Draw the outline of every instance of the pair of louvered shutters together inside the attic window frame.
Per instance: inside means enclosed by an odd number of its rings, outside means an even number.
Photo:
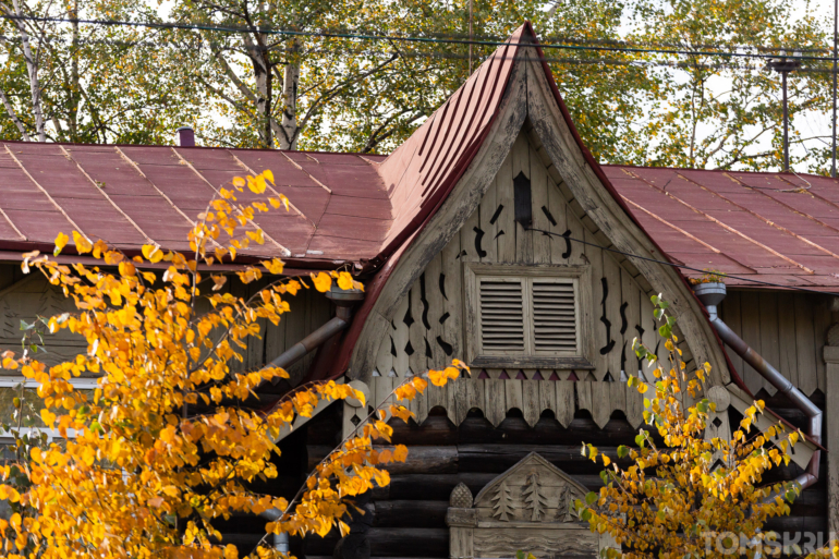
[[[478,277],[481,353],[575,355],[577,280]]]

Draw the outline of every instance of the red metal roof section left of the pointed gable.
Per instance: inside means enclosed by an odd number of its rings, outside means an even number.
[[[273,172],[293,205],[255,218],[254,254],[335,266],[373,258],[392,223],[380,156],[165,146],[0,143],[0,250],[51,250],[59,231],[124,251],[187,248],[196,216],[233,177]],[[247,192],[244,199],[255,196]],[[240,199],[242,197],[240,196]],[[71,244],[72,248],[72,244]]]

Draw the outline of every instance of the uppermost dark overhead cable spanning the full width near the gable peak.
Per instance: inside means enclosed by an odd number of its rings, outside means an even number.
[[[437,45],[460,45],[460,46],[485,46],[485,47],[500,47],[500,46],[521,46],[533,47],[538,46],[543,49],[564,49],[564,50],[593,50],[603,52],[636,52],[647,54],[681,54],[681,56],[706,56],[706,57],[727,57],[727,58],[757,58],[757,59],[775,59],[778,54],[766,52],[735,52],[735,51],[712,51],[712,50],[690,50],[690,49],[650,49],[640,47],[603,47],[603,46],[584,46],[584,45],[561,45],[556,42],[546,42],[534,45],[532,42],[508,42],[498,39],[459,39],[459,38],[440,38],[440,37],[411,37],[402,35],[384,35],[384,34],[370,34],[370,33],[346,33],[346,32],[302,32],[294,29],[273,29],[258,26],[252,27],[236,27],[236,26],[222,26],[222,25],[206,25],[206,24],[193,24],[193,23],[172,23],[172,22],[130,22],[120,20],[86,20],[75,17],[39,17],[35,15],[9,15],[2,14],[1,19],[4,20],[19,20],[19,21],[33,21],[33,22],[52,22],[52,23],[72,23],[72,24],[86,24],[86,25],[111,25],[111,26],[131,26],[131,27],[148,27],[158,29],[181,29],[181,31],[208,31],[208,32],[221,32],[221,33],[260,33],[264,35],[288,36],[288,37],[323,37],[323,38],[340,38],[340,39],[362,39],[362,40],[388,40],[388,41],[402,41],[402,42],[428,42]],[[815,57],[811,54],[787,54],[785,58],[788,60],[807,60],[807,61],[830,61],[832,57]]]

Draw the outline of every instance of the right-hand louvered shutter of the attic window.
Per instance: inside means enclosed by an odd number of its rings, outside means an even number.
[[[573,280],[533,280],[533,349],[536,353],[577,351]]]

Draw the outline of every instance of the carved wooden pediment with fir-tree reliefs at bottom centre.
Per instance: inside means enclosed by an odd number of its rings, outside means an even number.
[[[454,488],[451,503],[469,501],[463,489],[465,486]],[[572,510],[574,500],[586,493],[533,452],[484,487],[471,507],[449,508],[449,557],[511,558],[518,550],[545,559],[597,557],[613,543],[608,536],[593,534]]]

